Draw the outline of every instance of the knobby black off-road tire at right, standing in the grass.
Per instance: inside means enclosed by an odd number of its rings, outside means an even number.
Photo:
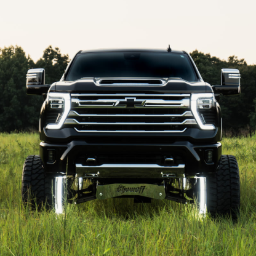
[[[206,178],[207,212],[212,216],[230,215],[236,219],[240,208],[240,179],[234,156],[222,155],[217,173]]]

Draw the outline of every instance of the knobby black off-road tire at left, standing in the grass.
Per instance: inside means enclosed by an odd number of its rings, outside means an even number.
[[[28,156],[22,171],[22,201],[30,204],[32,209],[52,209],[54,196],[52,195],[52,178],[47,178],[42,167],[40,156]]]

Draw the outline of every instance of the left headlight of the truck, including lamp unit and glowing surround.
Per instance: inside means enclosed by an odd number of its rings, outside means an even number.
[[[49,92],[47,95],[47,107],[50,110],[61,110],[62,114],[58,119],[57,124],[47,124],[46,129],[58,130],[60,129],[70,113],[71,97],[70,94],[62,94],[58,92]]]

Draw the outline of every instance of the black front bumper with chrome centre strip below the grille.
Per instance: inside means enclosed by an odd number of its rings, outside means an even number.
[[[48,151],[55,151],[55,161],[49,162]],[[212,162],[206,162],[206,151],[212,150]],[[100,162],[101,154],[108,153],[110,160]],[[162,158],[172,156],[174,164],[165,166],[155,163],[146,166],[146,163],[125,162],[123,164],[111,162],[120,155],[158,155]],[[40,156],[47,175],[54,177],[61,175],[77,175],[86,177],[87,174],[100,174],[95,178],[181,178],[198,176],[204,177],[216,172],[218,160],[222,155],[221,143],[193,144],[190,142],[173,143],[100,143],[74,140],[70,143],[40,143]],[[86,158],[94,156],[98,163],[88,166]],[[153,157],[154,158],[154,157]],[[177,161],[175,159],[178,159]]]

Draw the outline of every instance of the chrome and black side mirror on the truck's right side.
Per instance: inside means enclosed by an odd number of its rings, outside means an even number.
[[[215,94],[237,95],[241,93],[239,70],[223,68],[221,71],[221,86],[212,86]]]

